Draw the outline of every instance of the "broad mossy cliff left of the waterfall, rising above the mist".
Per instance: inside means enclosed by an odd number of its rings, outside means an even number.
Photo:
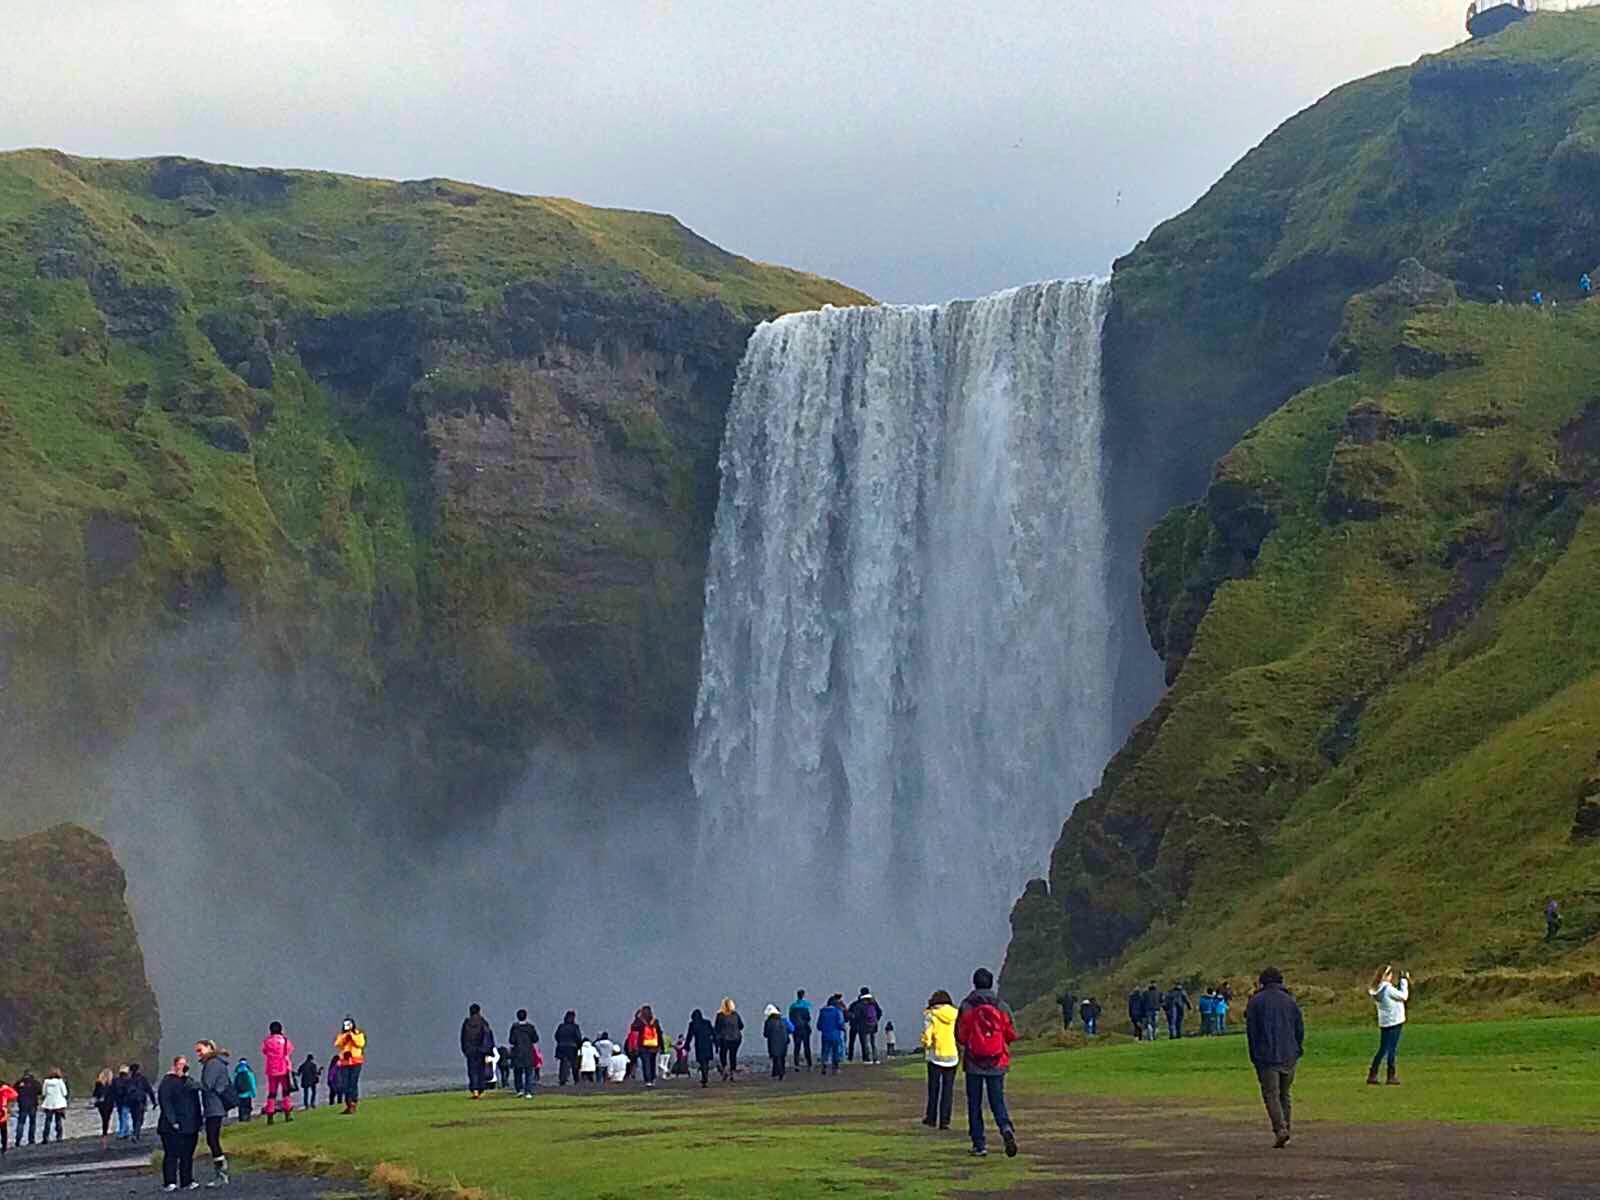
[[[670,218],[0,155],[8,822],[93,814],[80,768],[213,626],[309,760],[382,731],[424,808],[541,739],[659,757],[744,339],[862,301]]]

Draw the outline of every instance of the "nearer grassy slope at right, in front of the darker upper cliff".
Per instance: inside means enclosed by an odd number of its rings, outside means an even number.
[[[1342,1002],[1387,960],[1464,1010],[1595,998],[1600,306],[1413,264],[1339,346],[1150,536],[1176,680],[1016,907],[1018,998],[1277,962]]]

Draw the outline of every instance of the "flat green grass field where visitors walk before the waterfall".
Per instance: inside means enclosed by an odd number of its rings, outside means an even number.
[[[1600,1128],[1600,1019],[1416,1026],[1402,1043],[1400,1088],[1368,1088],[1368,1029],[1310,1030],[1296,1085],[1296,1123],[1408,1122]],[[944,1197],[1003,1194],[1064,1174],[1107,1120],[1138,1138],[1155,1117],[1184,1136],[1259,1123],[1242,1035],[1182,1043],[1118,1042],[1038,1050],[1010,1082],[1022,1157],[966,1157],[960,1094],[955,1130],[920,1117],[922,1066],[856,1069],[835,1080],[752,1080],[710,1091],[674,1083],[654,1093],[546,1090],[525,1102],[462,1094],[376,1099],[354,1118],[302,1115],[229,1133],[242,1160],[368,1178],[392,1195],[461,1197]],[[1150,1125],[1138,1110],[1149,1106]],[[1128,1112],[1134,1120],[1130,1122]],[[1163,1125],[1162,1128],[1170,1128]],[[1315,1134],[1312,1134],[1315,1136]]]

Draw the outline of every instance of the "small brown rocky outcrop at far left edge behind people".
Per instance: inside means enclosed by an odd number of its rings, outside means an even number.
[[[110,846],[77,826],[0,842],[0,1078],[160,1062],[162,1021]]]

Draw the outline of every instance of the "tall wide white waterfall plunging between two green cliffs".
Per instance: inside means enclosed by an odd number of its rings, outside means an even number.
[[[958,995],[1114,750],[1106,302],[1056,282],[752,334],[693,766],[698,877],[763,968]]]

